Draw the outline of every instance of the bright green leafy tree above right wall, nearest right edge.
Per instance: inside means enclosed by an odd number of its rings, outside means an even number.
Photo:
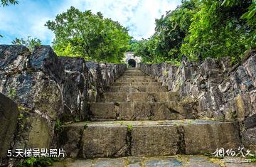
[[[239,60],[246,50],[250,28],[240,17],[250,1],[197,1],[189,34],[181,53],[191,60],[230,56]],[[231,6],[232,4],[232,6]]]

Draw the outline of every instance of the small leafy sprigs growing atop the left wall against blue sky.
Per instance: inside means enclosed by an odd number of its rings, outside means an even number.
[[[26,45],[29,50],[34,50],[36,45],[41,45],[41,40],[38,38],[31,38],[31,36],[28,36],[26,40],[23,38],[15,38],[14,41],[11,42],[13,45]]]

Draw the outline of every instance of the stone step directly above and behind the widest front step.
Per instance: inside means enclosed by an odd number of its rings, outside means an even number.
[[[193,102],[94,102],[90,104],[91,120],[164,120],[195,119]]]

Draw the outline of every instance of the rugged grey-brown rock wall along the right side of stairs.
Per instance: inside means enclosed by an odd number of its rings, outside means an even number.
[[[140,68],[183,100],[198,102],[201,117],[242,120],[256,113],[256,51],[242,65],[232,66],[230,58],[206,58],[202,63],[183,60],[180,67],[161,63]]]

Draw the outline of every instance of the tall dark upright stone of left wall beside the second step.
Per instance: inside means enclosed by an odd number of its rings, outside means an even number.
[[[59,58],[65,69],[65,80],[63,82],[64,113],[62,119],[65,122],[74,119],[86,119],[90,78],[85,60],[84,58]]]

